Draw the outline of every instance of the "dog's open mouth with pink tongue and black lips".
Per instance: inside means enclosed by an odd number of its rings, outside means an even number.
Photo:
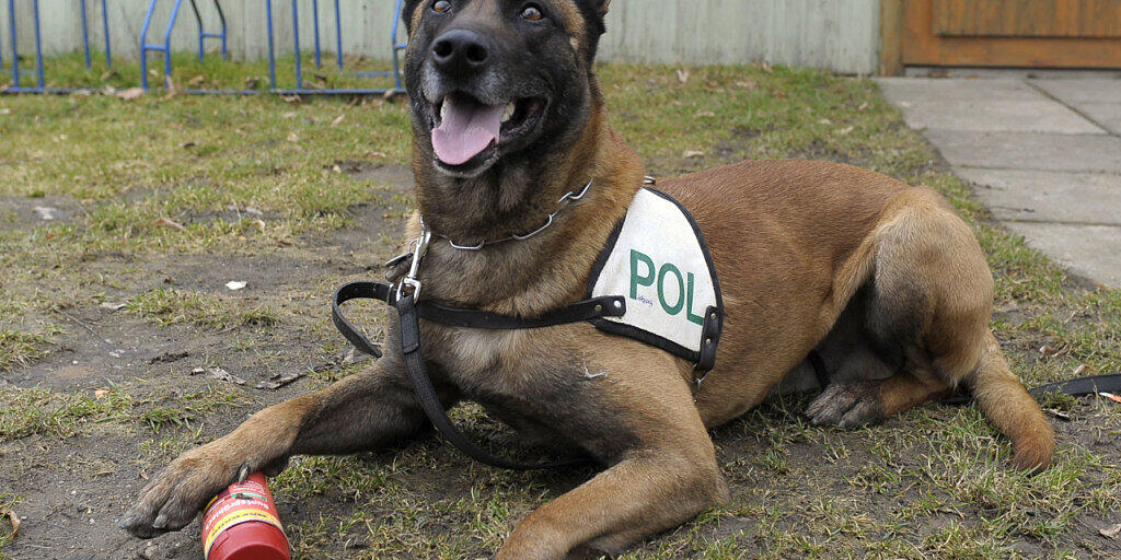
[[[535,97],[489,105],[466,93],[451,93],[433,105],[432,147],[445,166],[473,167],[532,131],[544,112],[545,102]]]

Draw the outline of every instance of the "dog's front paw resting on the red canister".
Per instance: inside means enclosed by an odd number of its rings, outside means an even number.
[[[156,475],[121,517],[120,526],[140,539],[178,531],[194,521],[210,498],[250,474],[248,466],[223,460],[213,445],[180,455]]]

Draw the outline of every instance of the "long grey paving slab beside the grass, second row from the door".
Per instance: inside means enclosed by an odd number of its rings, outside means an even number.
[[[1038,101],[904,101],[907,125],[917,130],[992,132],[1058,132],[1105,134],[1104,129],[1051,100]],[[1121,108],[1121,104],[1118,105]]]

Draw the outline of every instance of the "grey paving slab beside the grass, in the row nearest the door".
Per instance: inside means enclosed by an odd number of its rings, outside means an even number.
[[[892,103],[919,101],[1048,101],[1021,80],[878,77],[880,91]]]

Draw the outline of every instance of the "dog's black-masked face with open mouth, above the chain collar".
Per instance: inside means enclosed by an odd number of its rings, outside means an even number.
[[[420,156],[473,178],[575,141],[610,0],[413,0],[405,81]]]

